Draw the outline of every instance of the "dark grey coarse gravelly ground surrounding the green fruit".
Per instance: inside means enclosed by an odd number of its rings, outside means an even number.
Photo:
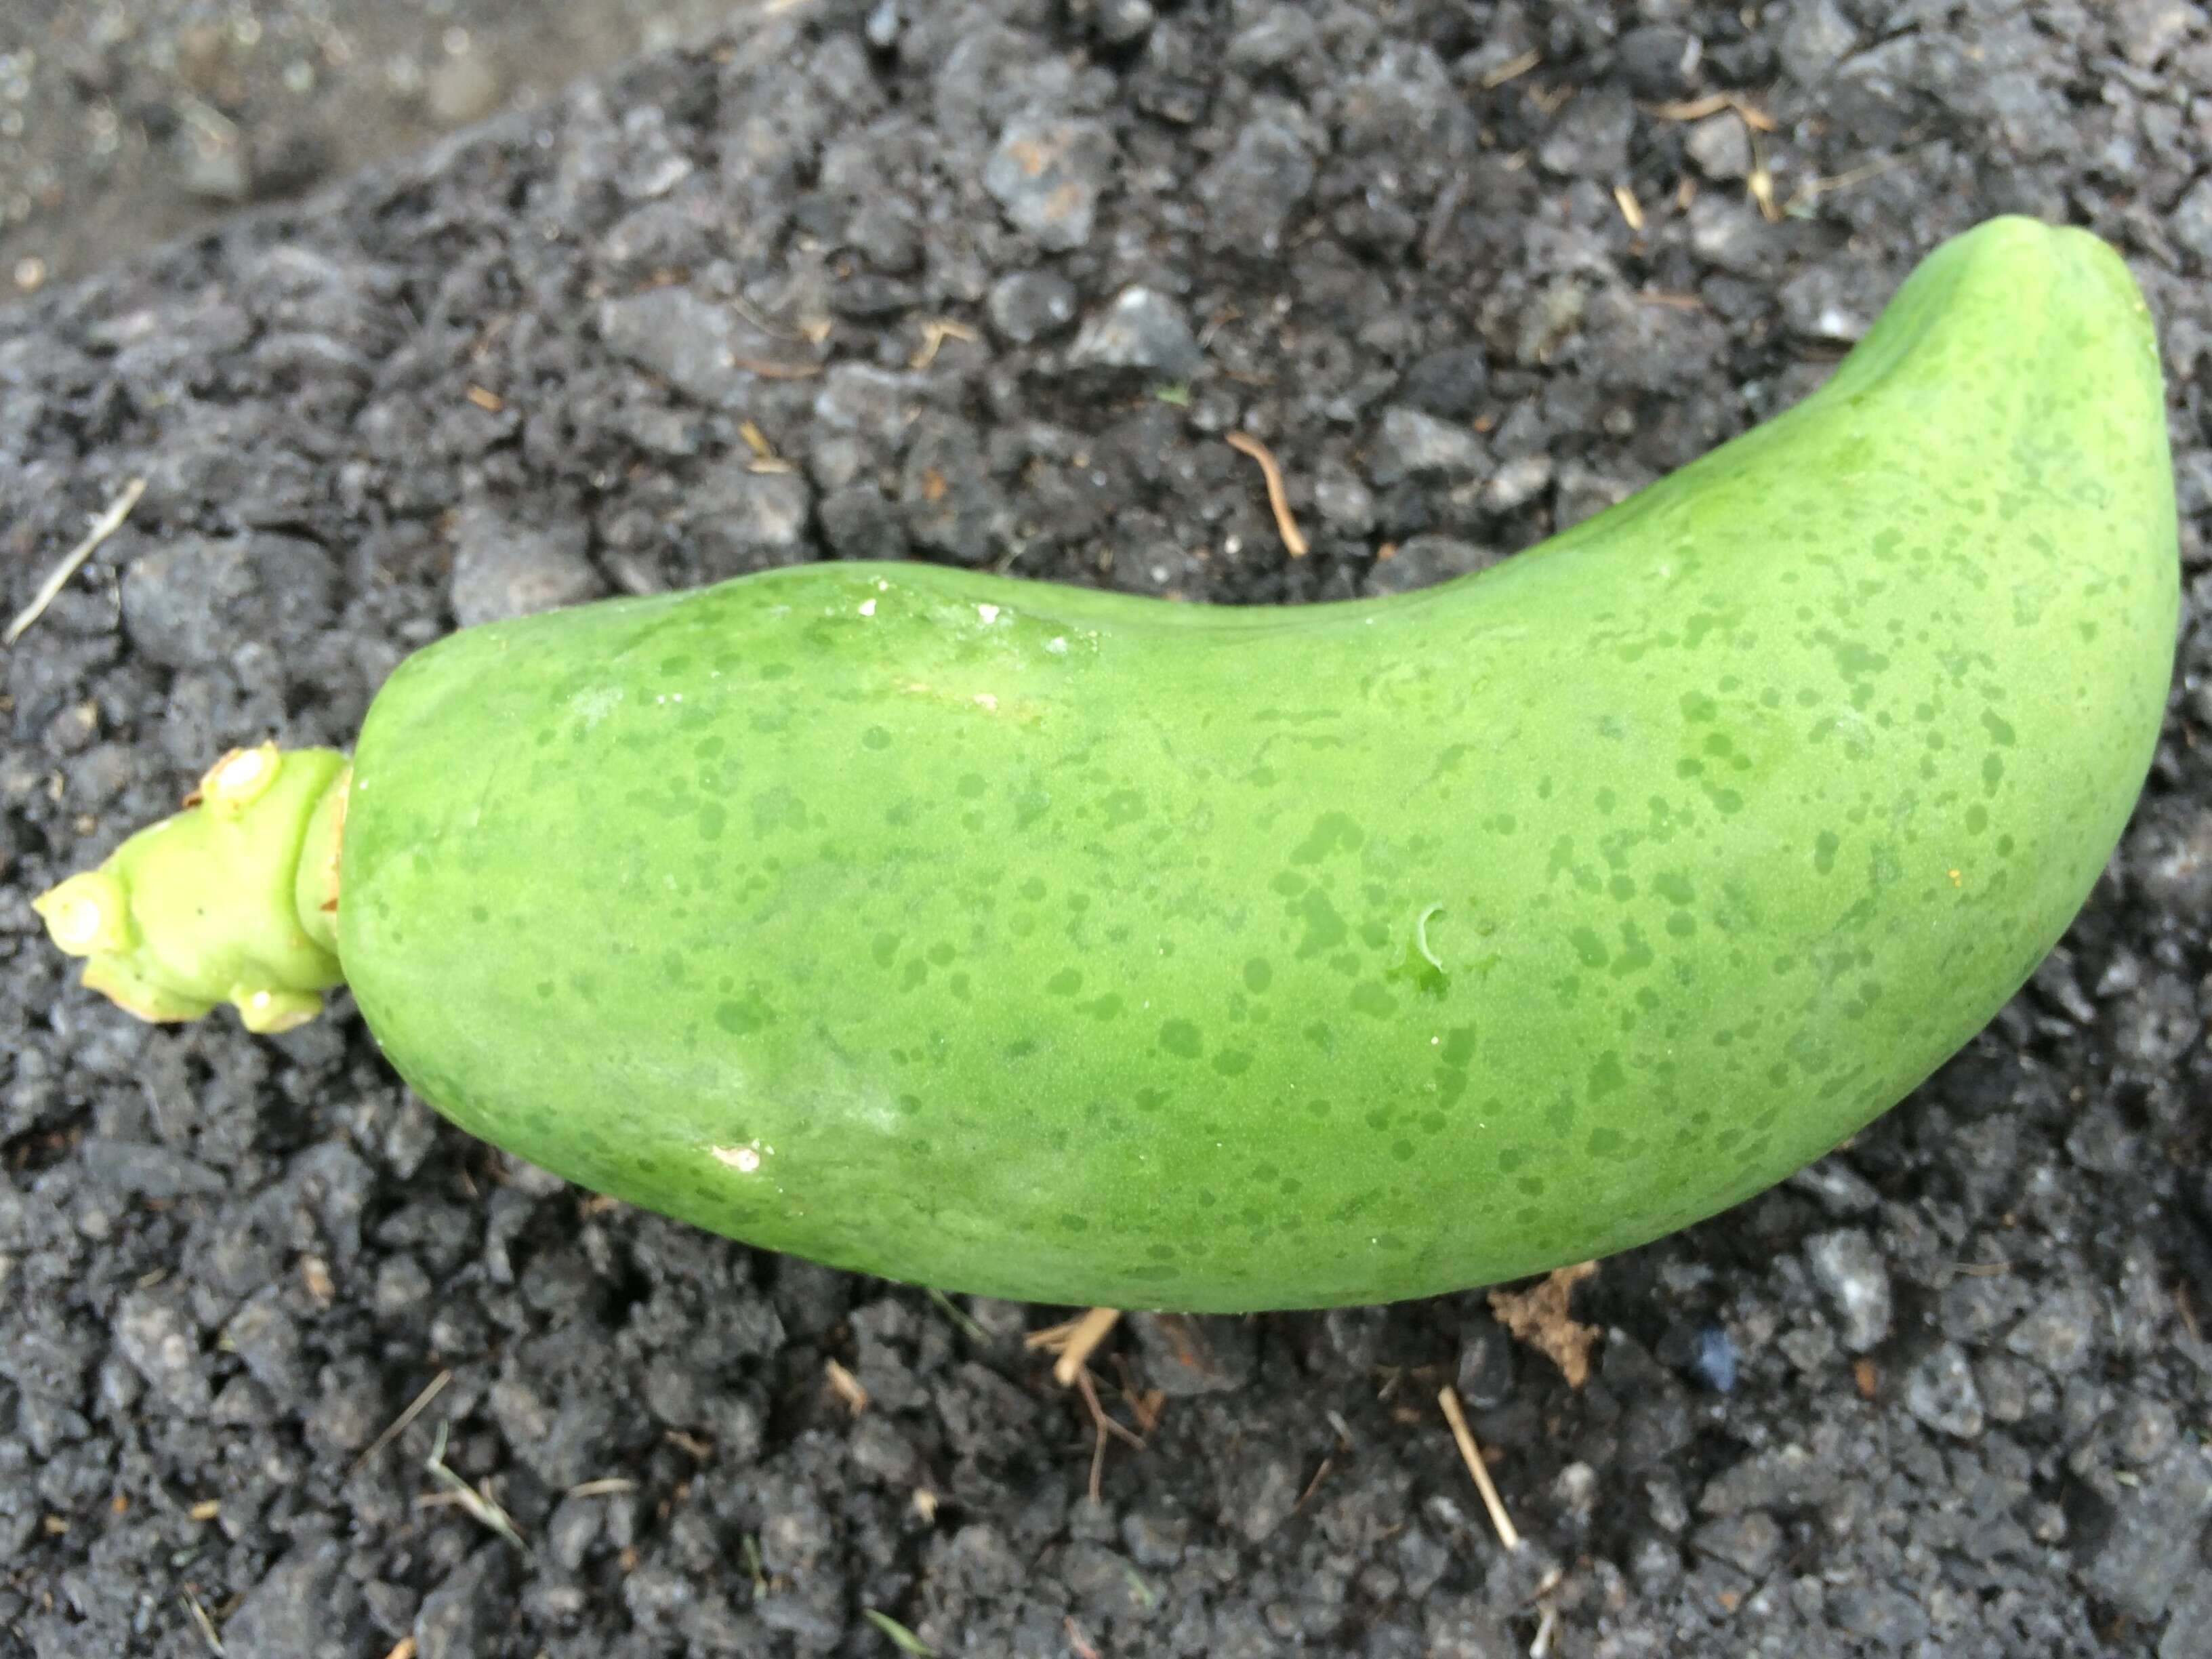
[[[146,480],[4,653],[0,1655],[2205,1655],[2208,93],[2159,0],[816,0],[0,310],[0,615]],[[2002,210],[2161,321],[2150,787],[1905,1106],[1575,1290],[1579,1389],[1489,1287],[1130,1314],[1060,1387],[1024,1336],[1079,1310],[577,1192],[343,1000],[135,1024],[29,909],[456,624],[818,557],[1480,568]]]

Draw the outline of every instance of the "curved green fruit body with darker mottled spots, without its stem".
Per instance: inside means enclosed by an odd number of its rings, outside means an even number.
[[[453,635],[363,730],[341,956],[465,1128],[741,1239],[1444,1292],[1734,1203],[1973,1035],[2126,823],[2174,606],[2143,305],[1997,221],[1801,409],[1427,593],[825,564]]]

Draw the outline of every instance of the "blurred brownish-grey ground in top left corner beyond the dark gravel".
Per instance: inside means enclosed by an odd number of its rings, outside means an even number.
[[[7,0],[0,294],[299,197],[743,15],[728,0]]]

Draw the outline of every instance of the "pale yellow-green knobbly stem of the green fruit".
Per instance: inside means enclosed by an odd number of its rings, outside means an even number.
[[[248,1031],[290,1031],[345,982],[349,779],[336,750],[230,750],[181,812],[31,909],[62,951],[84,958],[84,984],[139,1020],[197,1020],[228,1002]]]

